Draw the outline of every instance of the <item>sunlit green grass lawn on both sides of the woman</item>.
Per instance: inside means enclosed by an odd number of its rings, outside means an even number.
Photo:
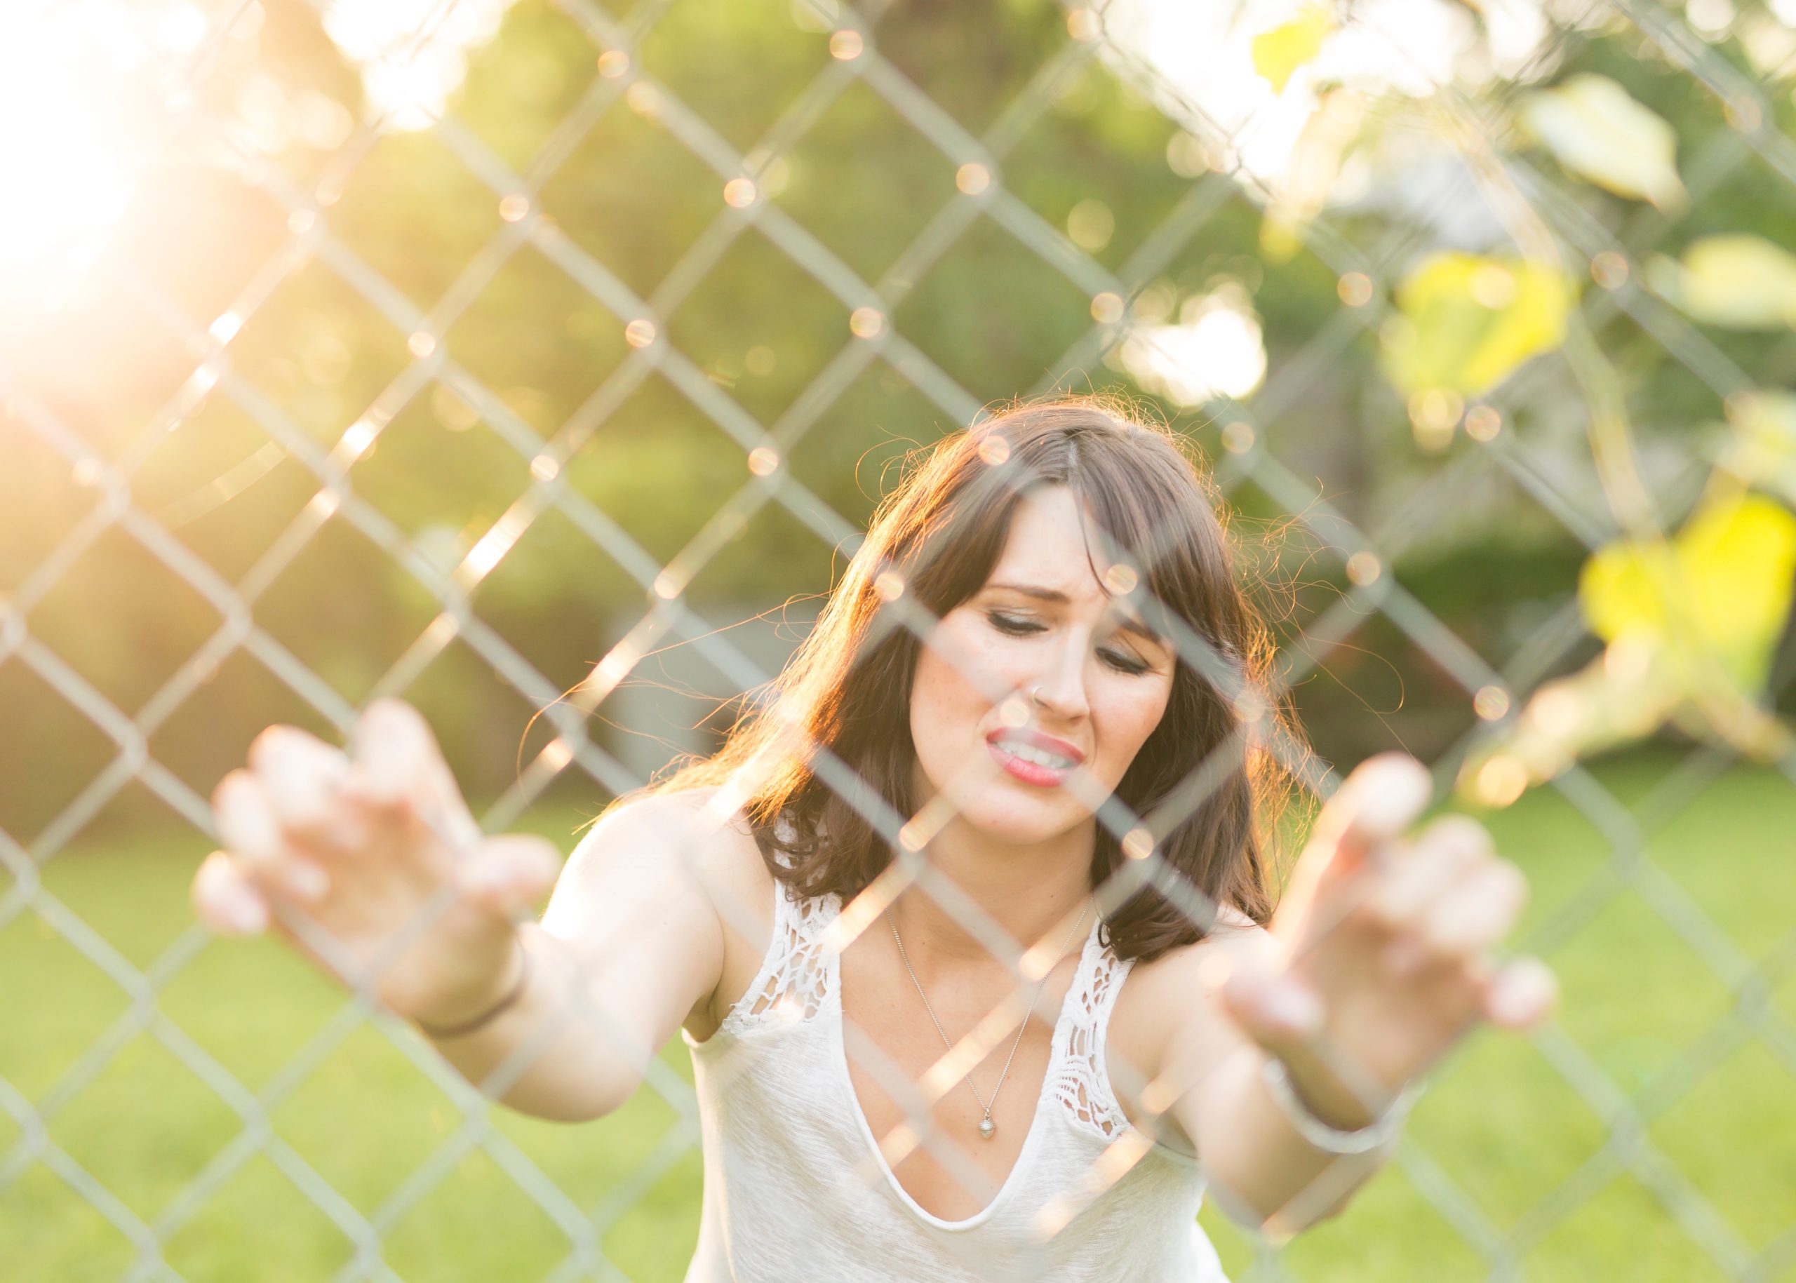
[[[1627,823],[1667,796],[1677,758],[1642,753],[1597,765]],[[1665,888],[1688,897],[1748,960],[1767,956],[1796,924],[1789,888],[1796,791],[1762,769],[1719,776],[1688,807],[1643,836],[1640,852]],[[532,828],[571,846],[569,814],[535,814]],[[1721,1040],[1728,987],[1652,909],[1622,888],[1584,913],[1611,843],[1555,791],[1487,818],[1534,898],[1521,940],[1546,924],[1577,929],[1548,952],[1564,987],[1559,1031],[1624,1093],[1654,1100],[1699,1046],[1726,1048],[1688,1093],[1660,1110],[1647,1139],[1748,1251],[1796,1224],[1796,1082],[1756,1037]],[[190,925],[187,880],[208,846],[196,834],[72,848],[43,870],[50,897],[102,947],[149,969]],[[9,891],[11,882],[0,880]],[[1572,906],[1572,907],[1568,907]],[[1566,916],[1572,913],[1572,916]],[[271,942],[207,940],[154,992],[156,1008],[246,1093],[264,1093],[332,1017],[341,992]],[[1796,978],[1773,990],[1778,1019],[1796,1024]],[[0,927],[0,1096],[43,1103],[56,1084],[120,1021],[133,999],[38,911]],[[424,1044],[418,1044],[426,1049]],[[690,1080],[675,1040],[665,1060]],[[645,1089],[598,1123],[568,1127],[494,1112],[494,1127],[564,1193],[577,1215],[625,1209],[603,1231],[605,1254],[634,1279],[679,1279],[697,1234],[700,1164],[679,1152],[686,1123]],[[458,1128],[451,1100],[377,1030],[363,1024],[269,1109],[296,1161],[338,1191],[341,1208],[374,1215]],[[138,1030],[104,1069],[48,1118],[48,1139],[99,1181],[120,1215],[153,1224],[171,1200],[242,1137],[242,1121],[181,1058]],[[1530,1227],[1537,1208],[1580,1173],[1607,1130],[1591,1105],[1528,1040],[1482,1031],[1442,1067],[1417,1105],[1410,1141],[1496,1233]],[[115,1279],[135,1260],[128,1238],[43,1161],[20,1166],[22,1128],[0,1112],[0,1276],[77,1283]],[[645,1163],[661,1154],[650,1170]],[[668,1159],[668,1154],[677,1157]],[[332,1208],[339,1211],[339,1208]],[[1248,1272],[1254,1242],[1214,1208],[1209,1227],[1230,1274]],[[330,1278],[354,1243],[282,1164],[253,1152],[167,1240],[165,1260],[201,1279]],[[490,1155],[463,1155],[386,1233],[383,1256],[402,1278],[535,1279],[569,1240]],[[1471,1279],[1489,1267],[1433,1200],[1397,1168],[1351,1209],[1284,1249],[1300,1279]],[[1521,1274],[1631,1283],[1708,1279],[1726,1272],[1634,1175],[1597,1181],[1570,1215],[1537,1225]],[[1796,1269],[1780,1278],[1796,1283]]]

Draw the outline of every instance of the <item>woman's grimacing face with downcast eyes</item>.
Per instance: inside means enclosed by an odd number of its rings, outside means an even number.
[[[1094,530],[1092,573],[1081,519],[1065,485],[1026,494],[984,588],[941,618],[918,659],[918,798],[946,792],[959,823],[1000,841],[1088,823],[1092,807],[1065,787],[1070,764],[1090,776],[1087,798],[1112,792],[1173,690],[1171,645],[1112,604],[1099,579],[1110,562]]]

